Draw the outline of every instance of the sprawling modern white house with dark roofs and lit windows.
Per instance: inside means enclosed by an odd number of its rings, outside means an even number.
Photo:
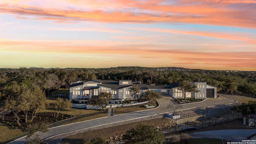
[[[186,98],[200,98],[207,97],[216,98],[217,88],[207,85],[206,82],[193,82],[197,85],[199,92],[186,92]],[[140,86],[140,92],[138,92],[138,98],[140,94],[147,90],[153,90],[160,92],[164,95],[172,96],[173,98],[183,98],[182,91],[179,90],[178,83],[166,85],[166,86],[152,86],[147,84],[141,84],[140,82],[132,82],[132,80],[88,80],[72,82],[70,85],[70,101],[76,98],[92,98],[98,96],[100,92],[111,92],[114,99],[127,99],[132,100],[129,88],[132,86]],[[209,90],[208,90],[209,88]],[[209,91],[209,94],[208,94]]]

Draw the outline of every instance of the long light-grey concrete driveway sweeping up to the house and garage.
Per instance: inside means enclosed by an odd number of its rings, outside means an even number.
[[[138,111],[138,112],[131,112],[131,113],[126,113],[126,114],[120,114],[120,115],[116,115],[116,116],[108,116],[108,117],[104,117],[104,118],[88,120],[88,121],[84,121],[84,122],[77,122],[74,124],[68,124],[68,125],[50,128],[48,132],[44,133],[44,137],[50,138],[57,134],[63,134],[63,133],[71,132],[74,130],[80,130],[80,129],[84,129],[84,128],[100,126],[100,125],[120,122],[120,121],[124,121],[124,120],[132,120],[132,119],[136,119],[136,118],[140,118],[140,117],[151,116],[154,114],[168,113],[168,112],[172,111],[170,109],[167,109],[167,105],[171,102],[171,100],[172,100],[172,98],[170,96],[164,96],[163,98],[158,100],[158,102],[160,104],[160,106],[158,108],[144,110],[144,111]],[[207,98],[207,100],[205,100],[204,102],[198,102],[198,103],[193,103],[193,104],[183,104],[183,107],[178,110],[195,108],[195,107],[206,107],[206,106],[210,106],[210,105],[232,103],[232,102],[235,102],[235,100],[226,98],[225,96],[220,96],[220,98]],[[18,140],[10,142],[10,144],[24,144],[26,141],[27,141],[26,138],[20,138]]]

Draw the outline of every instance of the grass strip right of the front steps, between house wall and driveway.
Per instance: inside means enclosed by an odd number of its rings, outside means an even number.
[[[114,108],[114,115],[124,114],[124,113],[128,113],[128,112],[136,112],[136,111],[139,111],[139,110],[148,110],[150,108],[145,108],[144,107],[144,105],[147,105],[147,104],[148,103],[137,105],[137,106],[128,106],[128,107]],[[158,103],[152,102],[151,105],[157,107]]]

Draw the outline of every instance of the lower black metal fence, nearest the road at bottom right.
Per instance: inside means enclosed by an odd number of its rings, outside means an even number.
[[[172,134],[178,134],[181,132],[189,132],[192,130],[198,130],[198,129],[206,128],[209,126],[216,126],[217,124],[232,122],[232,121],[238,120],[240,118],[242,118],[242,114],[234,114],[232,116],[217,118],[215,120],[202,120],[202,121],[188,122],[185,124],[180,124],[177,127],[170,128],[169,132],[165,133],[164,135],[170,136]]]

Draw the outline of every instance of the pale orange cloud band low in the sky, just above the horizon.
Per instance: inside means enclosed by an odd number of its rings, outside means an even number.
[[[97,64],[100,64],[102,60],[108,60],[110,67],[116,66],[116,64],[119,64],[119,66],[136,64],[150,67],[170,64],[169,66],[189,66],[190,68],[193,66],[194,68],[211,66],[210,69],[256,70],[255,50],[232,52],[224,49],[218,52],[211,52],[207,51],[207,48],[201,51],[200,49],[166,47],[162,48],[162,45],[159,44],[113,43],[107,41],[0,40],[2,54],[6,52],[22,53],[22,56],[27,59],[33,57],[30,56],[31,53],[35,53],[36,55],[51,56],[55,54],[55,58],[58,58],[58,61],[66,60],[66,58],[72,59],[72,61],[81,61],[84,58],[88,60],[89,58],[90,62],[92,61],[95,66],[99,67],[101,65]],[[26,63],[30,63],[30,61],[28,60]],[[50,63],[54,63],[54,61]],[[78,65],[77,67],[82,67],[82,63],[80,66]]]

